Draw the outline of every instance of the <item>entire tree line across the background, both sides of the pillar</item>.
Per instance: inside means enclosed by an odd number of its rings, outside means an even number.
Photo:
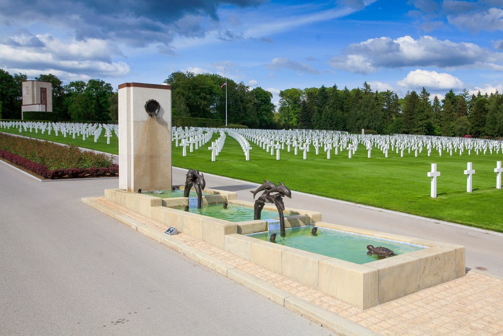
[[[60,120],[117,121],[118,94],[99,79],[70,82],[54,75],[36,80],[52,83],[53,110]],[[0,117],[21,118],[22,88],[26,75],[0,69]],[[216,74],[174,72],[165,81],[172,87],[173,116],[225,120],[250,128],[333,129],[380,134],[406,133],[436,136],[503,136],[503,95],[470,95],[450,90],[440,100],[423,88],[400,98],[391,91],[373,91],[365,82],[349,90],[320,88],[280,91],[279,107],[272,93]],[[224,85],[225,84],[225,85]],[[226,113],[227,109],[227,113]]]

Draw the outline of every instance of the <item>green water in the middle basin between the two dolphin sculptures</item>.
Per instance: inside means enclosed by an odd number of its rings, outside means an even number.
[[[173,209],[185,210],[185,207],[176,207]],[[253,221],[254,217],[254,208],[240,206],[236,204],[229,204],[227,206],[227,209],[223,208],[222,203],[208,204],[204,205],[203,209],[197,209],[197,207],[191,207],[189,212],[212,218],[224,219],[229,222]],[[269,211],[266,209],[262,210],[261,215],[262,215],[261,219],[263,220],[279,217],[277,212]]]

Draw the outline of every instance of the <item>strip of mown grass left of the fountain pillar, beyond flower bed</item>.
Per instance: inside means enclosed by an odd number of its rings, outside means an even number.
[[[35,128],[31,132],[29,128],[26,131],[23,128],[22,132],[19,132],[18,128],[14,127],[11,127],[10,129],[0,128],[0,132],[11,133],[28,138],[52,141],[64,145],[75,145],[77,147],[92,149],[94,151],[100,151],[110,154],[119,154],[119,138],[117,138],[115,136],[115,133],[113,133],[112,137],[110,137],[110,145],[107,145],[105,129],[102,130],[101,136],[96,143],[94,142],[94,136],[86,138],[86,140],[82,140],[81,134],[78,137],[77,135],[75,135],[75,139],[73,139],[73,136],[68,134],[66,135],[66,138],[64,138],[63,134],[59,132],[58,136],[56,137],[54,129],[51,131],[51,135],[48,135],[47,129],[45,130],[44,134],[42,134],[42,131],[40,129],[38,130],[38,133],[35,133]]]

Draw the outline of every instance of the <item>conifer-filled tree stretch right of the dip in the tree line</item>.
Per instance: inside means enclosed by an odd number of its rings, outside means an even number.
[[[430,100],[423,88],[420,93],[408,91],[399,98],[390,90],[363,88],[287,89],[280,92],[278,121],[285,126],[309,129],[334,129],[377,133],[405,133],[436,136],[474,137],[503,136],[503,95],[497,90],[490,95],[480,91],[469,95],[464,89],[445,98]]]

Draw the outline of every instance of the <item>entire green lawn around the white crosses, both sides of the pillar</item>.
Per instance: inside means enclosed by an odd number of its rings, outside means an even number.
[[[13,129],[11,129],[12,131]],[[2,129],[1,131],[4,131]],[[17,129],[12,131],[18,134]],[[24,134],[23,134],[24,135]],[[93,139],[82,142],[62,136],[42,138],[40,134],[28,133],[33,138],[46,139],[61,143],[71,143],[103,152],[118,153],[117,138],[112,138],[110,145],[101,137],[98,144]],[[215,134],[213,140],[218,138]],[[74,142],[73,142],[74,141]],[[468,156],[448,152],[442,157],[432,152],[428,157],[426,149],[416,158],[414,152],[405,151],[404,157],[395,151],[389,151],[389,158],[384,158],[381,151],[374,148],[372,158],[367,158],[367,150],[360,145],[352,159],[344,151],[326,159],[326,153],[320,150],[318,156],[311,146],[307,160],[303,160],[302,151],[295,156],[281,151],[281,160],[255,144],[251,144],[250,161],[245,161],[239,144],[227,136],[225,146],[216,162],[211,162],[211,151],[201,149],[182,156],[182,147],[173,146],[173,165],[182,168],[198,169],[203,173],[237,178],[245,181],[262,183],[268,179],[278,183],[282,181],[292,190],[320,196],[342,199],[383,209],[460,223],[487,230],[503,232],[503,189],[496,189],[496,161],[503,161],[503,154],[479,154]],[[467,162],[473,162],[476,173],[473,176],[473,192],[466,192],[466,175],[463,171]],[[430,197],[431,179],[427,173],[431,164],[437,163],[441,172],[438,178],[437,198]]]

